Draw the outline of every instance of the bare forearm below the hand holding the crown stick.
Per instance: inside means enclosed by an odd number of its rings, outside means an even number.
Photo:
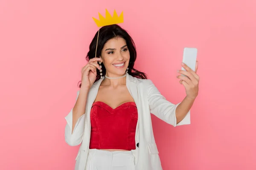
[[[78,99],[73,108],[72,133],[79,117],[81,117],[85,113],[88,92],[89,92],[88,88],[83,88],[83,87],[80,88]]]

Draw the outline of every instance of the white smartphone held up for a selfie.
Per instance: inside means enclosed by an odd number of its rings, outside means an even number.
[[[193,71],[195,71],[196,57],[197,57],[197,48],[188,48],[188,47],[184,48],[182,62],[185,63]],[[183,67],[181,67],[181,70],[186,71],[185,68]]]

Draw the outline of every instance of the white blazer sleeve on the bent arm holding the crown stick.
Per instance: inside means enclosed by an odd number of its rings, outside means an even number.
[[[78,99],[79,91],[76,95],[76,100]],[[72,126],[73,126],[73,108],[71,109],[70,113],[65,117],[66,119],[66,126],[65,126],[65,141],[70,146],[77,146],[81,144],[84,134],[84,122],[85,122],[85,114],[79,117],[74,127],[72,133]]]

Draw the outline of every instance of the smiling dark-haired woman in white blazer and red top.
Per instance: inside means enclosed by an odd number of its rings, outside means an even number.
[[[190,124],[199,77],[183,65],[186,71],[178,72],[187,77],[177,78],[187,95],[172,104],[134,68],[137,53],[124,29],[102,27],[96,51],[97,34],[81,71],[76,104],[65,117],[66,142],[81,144],[75,170],[162,170],[150,113],[173,126]]]

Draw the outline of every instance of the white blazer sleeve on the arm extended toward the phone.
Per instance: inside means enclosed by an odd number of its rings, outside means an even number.
[[[157,116],[159,119],[162,119],[164,122],[173,125],[174,127],[179,125],[189,125],[190,124],[190,110],[186,116],[177,123],[176,118],[176,108],[180,104],[173,104],[166,100],[166,98],[158,91],[157,87],[151,80],[148,80],[148,104],[150,112]]]

